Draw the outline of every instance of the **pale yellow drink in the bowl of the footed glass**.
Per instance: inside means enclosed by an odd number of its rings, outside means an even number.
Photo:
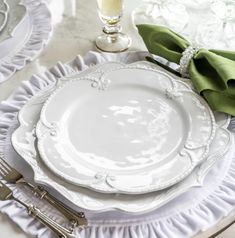
[[[100,13],[104,16],[119,16],[122,14],[122,0],[97,0]]]

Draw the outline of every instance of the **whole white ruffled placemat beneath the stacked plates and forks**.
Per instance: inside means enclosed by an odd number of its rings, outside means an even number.
[[[78,73],[89,66],[107,61],[132,63],[144,60],[146,52],[105,54],[89,52],[71,63],[58,63],[41,75],[24,81],[9,99],[0,104],[0,156],[32,179],[32,171],[14,152],[11,134],[18,125],[20,108],[42,90],[53,86],[58,78]],[[230,123],[235,133],[235,120]],[[23,187],[12,186],[15,196],[35,203],[51,218],[65,225],[66,220],[48,204],[32,197]],[[53,193],[53,191],[52,191]],[[78,204],[79,205],[79,204]],[[127,215],[121,212],[86,212],[89,227],[76,230],[77,237],[90,238],[184,238],[205,230],[226,216],[235,207],[235,151],[220,161],[208,174],[204,186],[193,188],[163,207],[144,215]],[[79,210],[79,208],[76,208]],[[54,237],[43,225],[28,217],[26,211],[13,201],[0,202],[0,211],[7,214],[25,232],[40,238]]]

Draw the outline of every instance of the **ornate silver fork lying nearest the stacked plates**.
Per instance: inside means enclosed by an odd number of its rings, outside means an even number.
[[[16,169],[12,168],[5,160],[0,157],[0,175],[8,183],[14,184],[24,184],[28,186],[33,194],[40,199],[44,199],[50,203],[54,208],[61,212],[71,223],[71,228],[74,229],[76,226],[85,227],[87,226],[87,219],[83,212],[75,212],[58,199],[50,195],[43,187],[34,186],[31,183],[25,181],[22,174],[20,174]]]

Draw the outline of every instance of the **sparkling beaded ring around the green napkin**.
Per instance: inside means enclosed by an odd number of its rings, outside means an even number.
[[[197,44],[192,44],[185,49],[180,59],[179,72],[183,78],[189,78],[189,64],[194,55],[201,49]]]

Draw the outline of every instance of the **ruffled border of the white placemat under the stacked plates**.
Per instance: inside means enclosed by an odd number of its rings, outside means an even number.
[[[41,75],[34,75],[30,81],[24,81],[12,96],[0,104],[0,155],[5,158],[13,157],[10,144],[10,136],[17,125],[17,114],[20,108],[34,95],[52,86],[56,79],[65,75],[74,74],[88,68],[92,64],[106,61],[121,61],[131,63],[143,60],[147,53],[123,53],[120,55],[88,53],[84,58],[78,56],[69,64],[58,63],[55,67]],[[230,129],[235,132],[235,119],[230,123]],[[225,161],[222,161],[225,164]],[[214,225],[221,218],[226,216],[235,207],[235,155],[226,161],[227,166],[221,173],[221,182],[212,186],[207,195],[196,203],[182,206],[178,211],[159,217],[145,214],[143,219],[136,219],[135,216],[128,219],[109,220],[107,215],[104,219],[95,215],[90,219],[90,227],[85,230],[77,230],[77,237],[89,238],[186,238],[191,237],[201,230]],[[219,173],[219,169],[218,169]],[[198,190],[200,191],[200,190]],[[17,191],[19,193],[19,191]],[[47,209],[47,205],[42,207]],[[22,208],[11,201],[0,202],[0,210],[7,214],[25,232],[37,235],[38,237],[52,237],[45,227],[39,225],[34,219],[29,218]],[[155,211],[155,214],[159,210]],[[56,220],[60,218],[51,213]],[[103,215],[104,217],[104,215]],[[123,217],[123,216],[122,216]]]

